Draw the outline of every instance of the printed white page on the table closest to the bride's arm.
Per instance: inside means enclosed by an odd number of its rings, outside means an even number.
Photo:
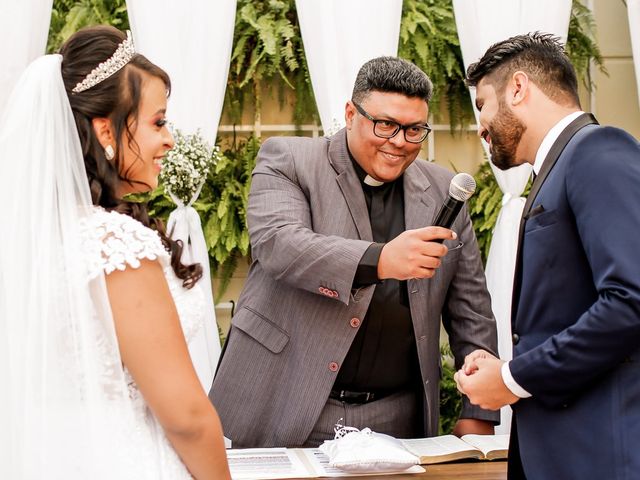
[[[313,478],[298,455],[286,448],[247,448],[227,450],[233,480],[274,478]]]

